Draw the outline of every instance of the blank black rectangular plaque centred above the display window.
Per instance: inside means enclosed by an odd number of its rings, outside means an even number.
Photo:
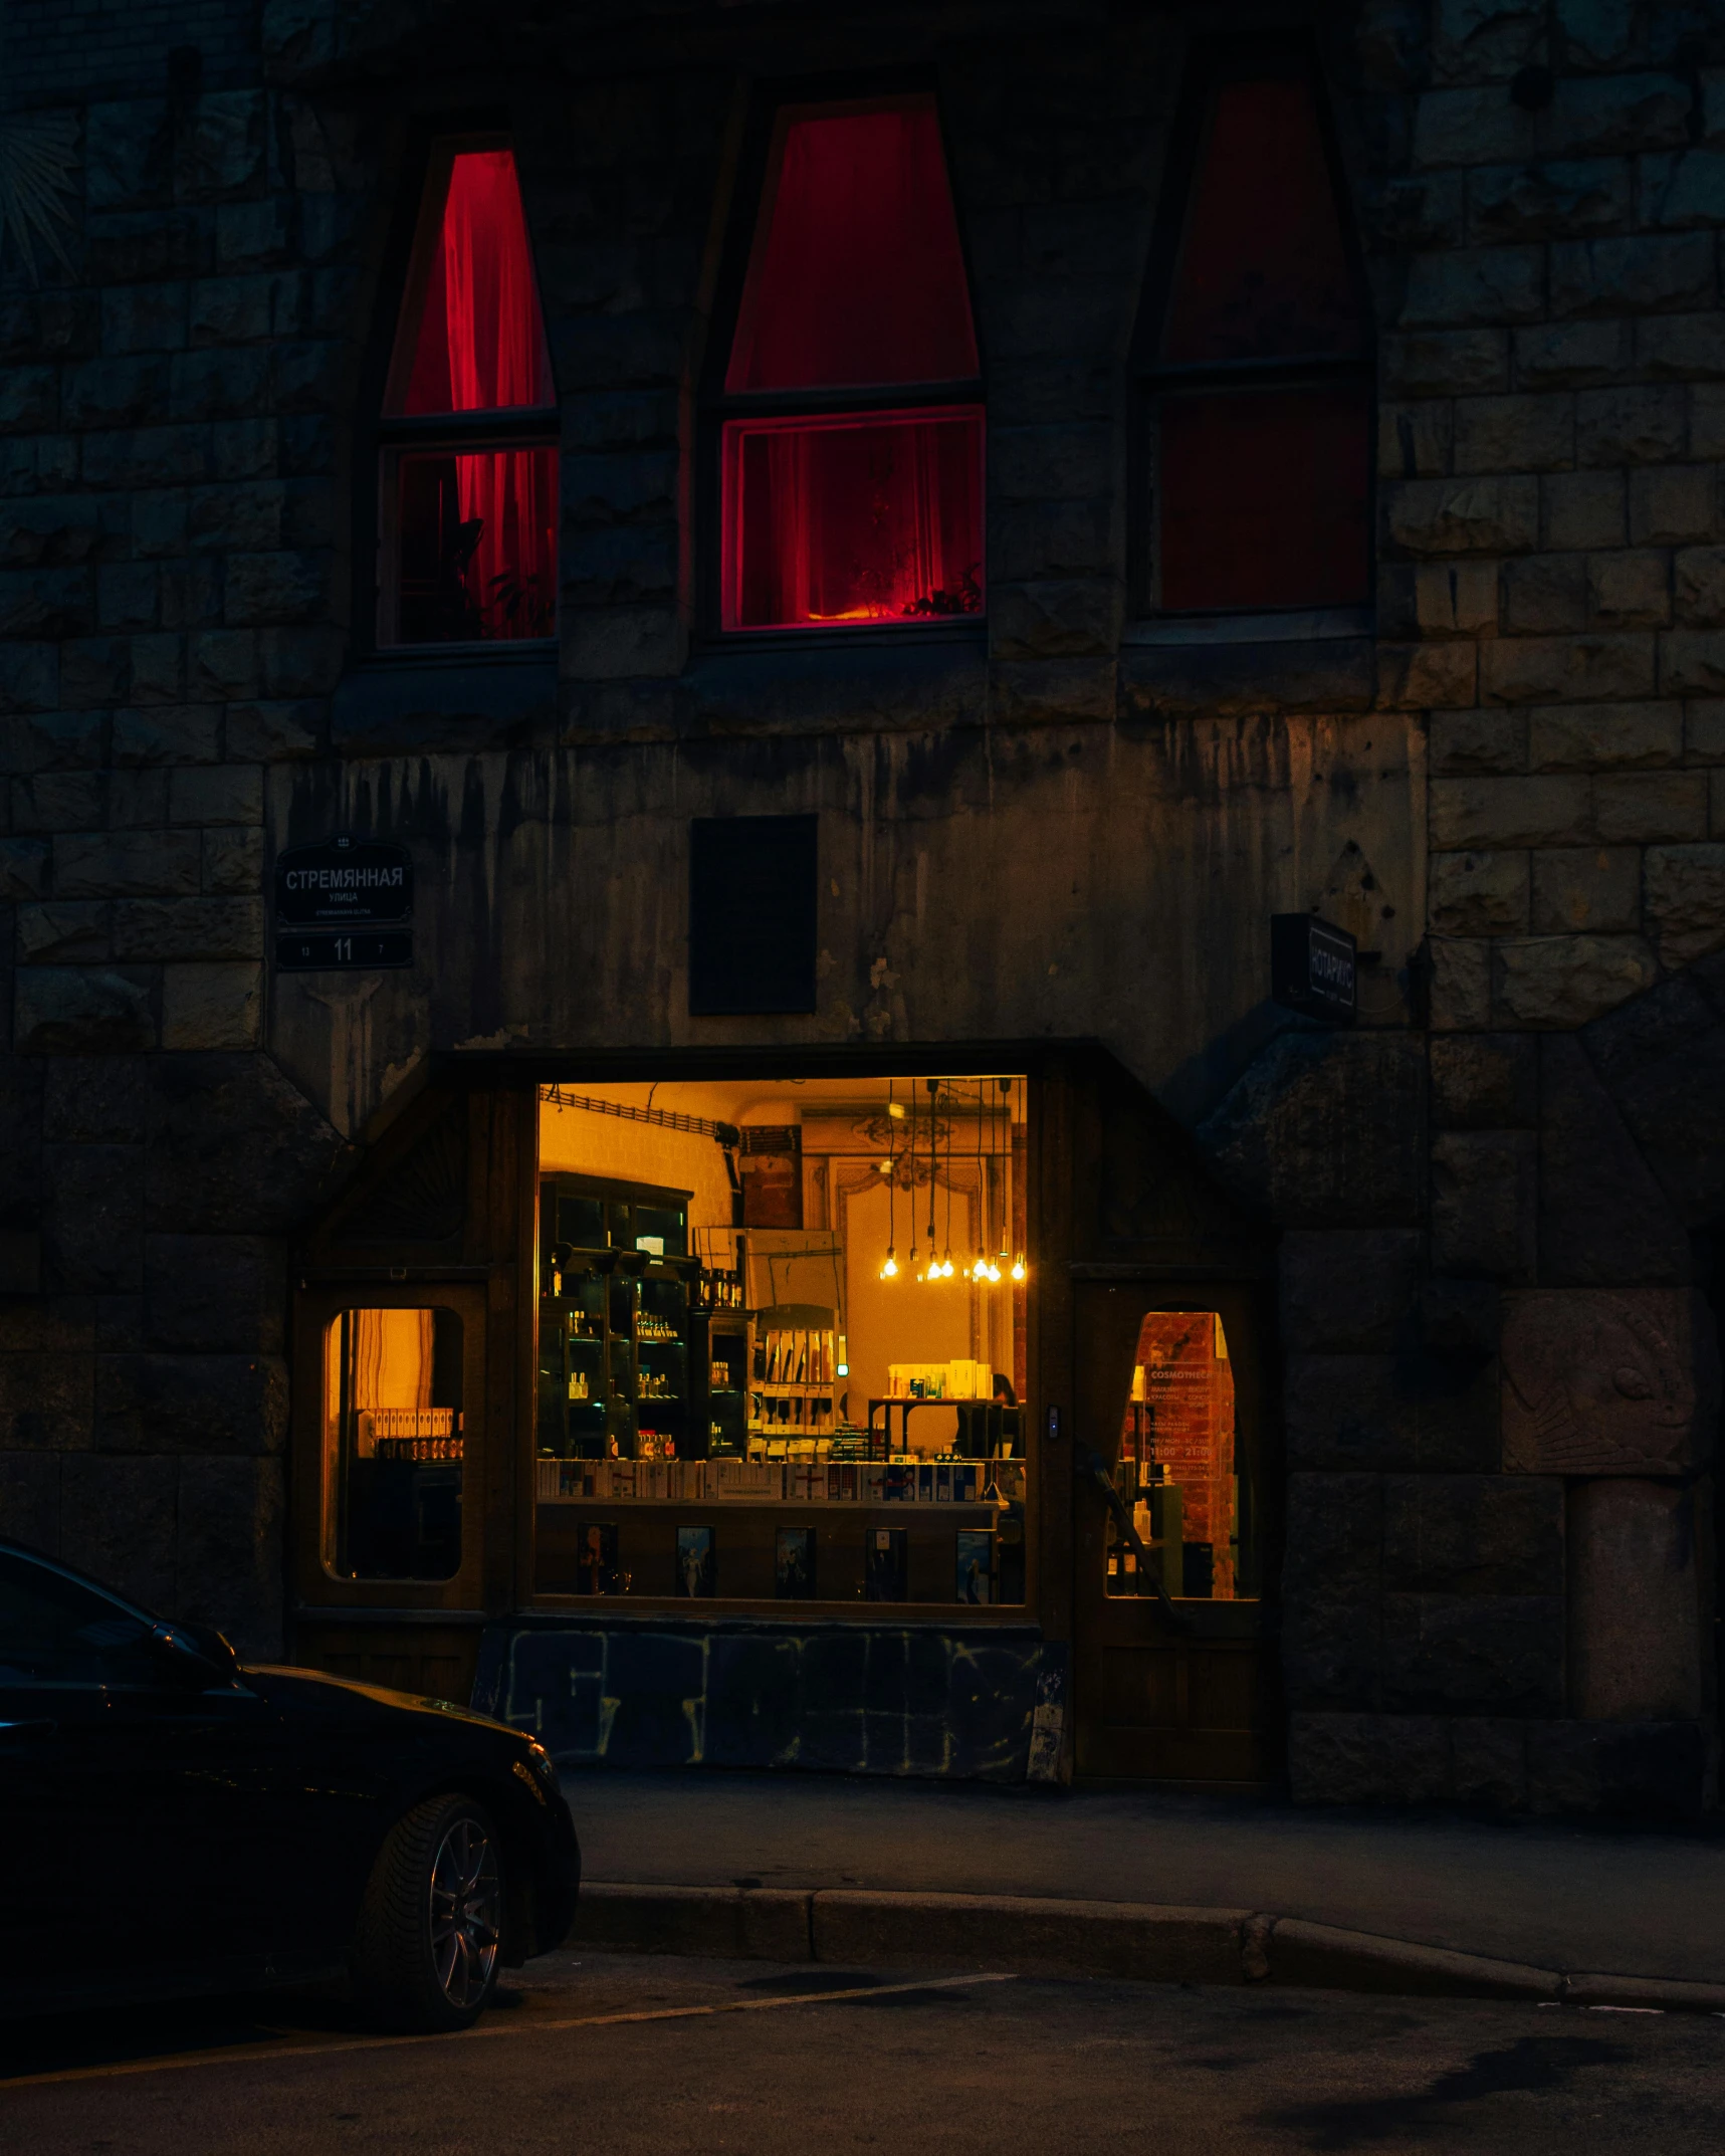
[[[815,1009],[815,826],[811,815],[690,824],[690,1015]]]

